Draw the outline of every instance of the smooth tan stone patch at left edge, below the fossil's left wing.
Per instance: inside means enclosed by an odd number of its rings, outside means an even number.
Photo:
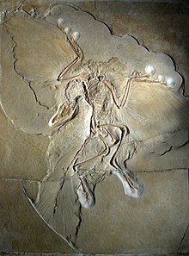
[[[0,178],[43,178],[48,138],[15,129],[3,110],[0,110],[0,123]]]

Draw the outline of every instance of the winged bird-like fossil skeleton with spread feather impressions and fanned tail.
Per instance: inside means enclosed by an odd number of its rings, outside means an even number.
[[[50,139],[46,177],[27,198],[76,248],[96,184],[113,174],[125,195],[140,197],[143,184],[127,166],[137,148],[163,154],[186,143],[186,133],[170,139],[189,127],[183,79],[167,54],[69,6],[5,16],[2,39],[2,108],[16,128]]]

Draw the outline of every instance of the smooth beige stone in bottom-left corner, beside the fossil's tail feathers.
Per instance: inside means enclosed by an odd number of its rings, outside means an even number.
[[[73,253],[36,214],[21,183],[0,182],[0,252]]]

